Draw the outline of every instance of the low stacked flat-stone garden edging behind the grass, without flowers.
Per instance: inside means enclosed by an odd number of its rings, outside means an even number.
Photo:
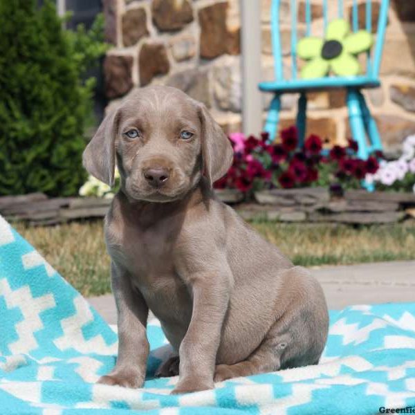
[[[349,190],[343,196],[331,196],[323,187],[307,187],[255,192],[256,202],[244,202],[237,190],[216,190],[216,194],[247,220],[369,224],[415,218],[414,193]],[[1,196],[0,214],[10,221],[55,225],[102,218],[110,203],[111,199],[95,197],[49,199],[42,193]]]

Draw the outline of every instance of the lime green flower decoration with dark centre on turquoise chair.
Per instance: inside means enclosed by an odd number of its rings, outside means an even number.
[[[350,33],[346,20],[333,20],[327,27],[325,39],[304,37],[298,42],[298,56],[308,61],[301,76],[304,79],[325,77],[330,71],[338,76],[356,76],[361,71],[357,55],[373,44],[374,37],[367,30]]]

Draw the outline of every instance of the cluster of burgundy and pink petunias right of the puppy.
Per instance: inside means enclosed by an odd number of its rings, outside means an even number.
[[[234,162],[228,174],[215,183],[216,189],[236,189],[246,200],[257,190],[326,187],[332,192],[361,188],[367,174],[376,174],[379,158],[376,153],[367,160],[358,158],[358,143],[335,145],[324,151],[320,137],[311,135],[298,147],[297,129],[282,131],[280,142],[233,133]]]

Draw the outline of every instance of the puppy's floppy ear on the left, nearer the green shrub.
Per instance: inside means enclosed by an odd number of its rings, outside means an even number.
[[[113,110],[104,118],[82,155],[86,171],[110,186],[114,184],[116,167],[117,126],[118,110]]]

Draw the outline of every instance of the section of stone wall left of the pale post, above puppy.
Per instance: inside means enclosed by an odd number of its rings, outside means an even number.
[[[105,0],[107,97],[166,84],[204,102],[229,132],[241,129],[238,0]]]

